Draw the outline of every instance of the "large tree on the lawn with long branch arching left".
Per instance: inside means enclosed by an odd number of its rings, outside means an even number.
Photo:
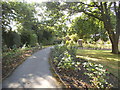
[[[83,12],[88,16],[102,21],[112,44],[112,53],[118,54],[120,35],[120,1],[119,2],[65,2],[58,6],[59,11],[69,11],[70,15]],[[115,17],[114,24],[112,23]]]

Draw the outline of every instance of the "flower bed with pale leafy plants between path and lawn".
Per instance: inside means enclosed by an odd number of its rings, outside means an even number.
[[[76,46],[59,45],[51,51],[52,65],[67,88],[117,88],[118,80],[100,64],[76,58]]]

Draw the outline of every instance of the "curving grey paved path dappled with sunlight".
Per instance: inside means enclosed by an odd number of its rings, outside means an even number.
[[[29,57],[3,81],[3,88],[59,88],[60,85],[49,70],[50,48]]]

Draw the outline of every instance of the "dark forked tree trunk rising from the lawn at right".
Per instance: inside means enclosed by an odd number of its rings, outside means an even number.
[[[110,12],[109,9],[107,7],[107,2],[104,3],[100,3],[100,7],[101,7],[101,15],[103,18],[103,22],[104,22],[104,27],[106,29],[106,31],[108,32],[111,44],[112,44],[112,53],[114,54],[118,54],[119,50],[118,50],[118,40],[119,40],[119,29],[120,29],[120,11],[117,12],[116,11],[116,7],[115,7],[115,12],[116,13],[116,31],[113,30],[113,25],[111,23],[111,17],[110,17]]]

